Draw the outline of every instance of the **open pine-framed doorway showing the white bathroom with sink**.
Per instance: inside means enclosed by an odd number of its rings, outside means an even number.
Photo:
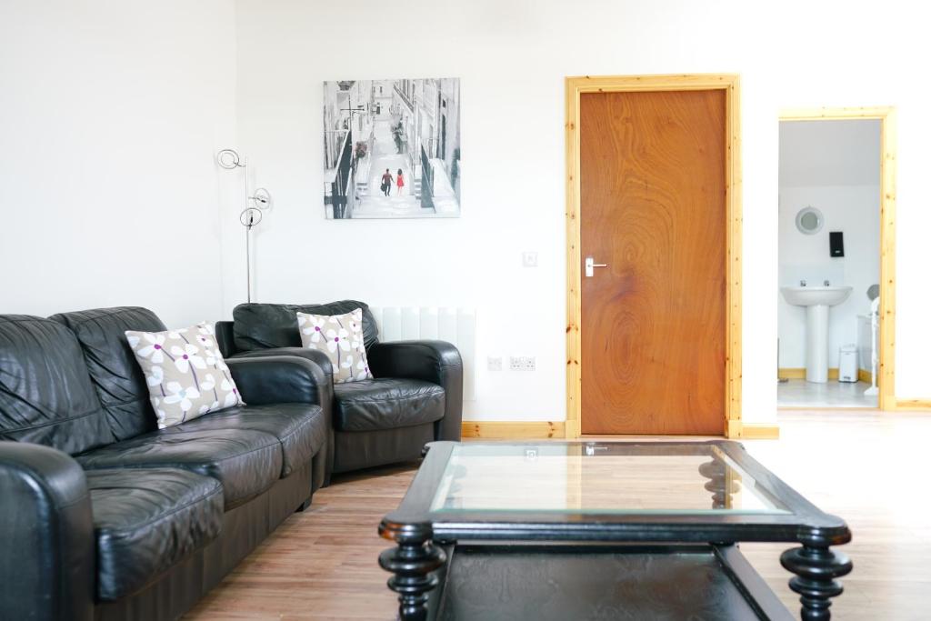
[[[779,124],[780,408],[893,408],[893,111]]]

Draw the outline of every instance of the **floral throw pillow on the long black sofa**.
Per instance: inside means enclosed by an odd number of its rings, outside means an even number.
[[[142,367],[158,428],[245,405],[206,323],[164,332],[127,331]]]

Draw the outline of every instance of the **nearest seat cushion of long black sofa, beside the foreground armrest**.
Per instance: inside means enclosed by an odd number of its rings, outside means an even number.
[[[223,486],[177,468],[87,473],[97,597],[131,595],[220,534]]]

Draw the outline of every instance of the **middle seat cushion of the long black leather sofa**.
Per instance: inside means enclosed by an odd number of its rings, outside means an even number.
[[[161,430],[77,455],[88,470],[182,468],[223,484],[225,508],[263,493],[281,476],[281,442],[251,429]]]

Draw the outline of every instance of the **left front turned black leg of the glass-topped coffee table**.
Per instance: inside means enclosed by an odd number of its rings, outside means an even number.
[[[431,572],[446,562],[446,553],[433,545],[433,529],[428,523],[393,524],[390,531],[398,547],[382,552],[378,564],[394,574],[388,579],[388,588],[398,593],[400,619],[425,621],[429,592],[439,583]]]

